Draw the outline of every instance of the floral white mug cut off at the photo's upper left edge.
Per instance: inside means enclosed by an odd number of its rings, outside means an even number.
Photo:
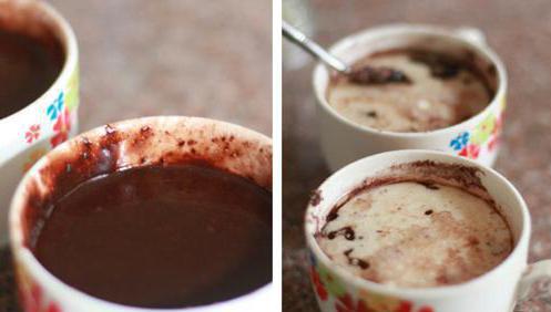
[[[76,133],[79,61],[74,33],[42,1],[0,0],[0,21],[33,31],[48,29],[59,40],[64,62],[59,76],[39,98],[0,118],[0,245],[8,242],[8,207],[23,174],[47,152]]]

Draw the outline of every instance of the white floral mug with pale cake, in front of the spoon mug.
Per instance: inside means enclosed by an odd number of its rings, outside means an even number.
[[[324,226],[327,214],[339,199],[368,178],[394,165],[418,160],[458,164],[478,168],[478,177],[507,219],[514,248],[494,269],[468,282],[436,288],[400,288],[364,280],[337,267],[316,242],[315,233]],[[325,180],[317,199],[306,210],[306,242],[310,251],[312,282],[323,312],[506,312],[528,293],[540,278],[551,278],[551,261],[529,266],[530,214],[518,190],[493,169],[465,157],[442,152],[397,150],[357,160]],[[524,277],[523,277],[523,273]],[[517,293],[517,289],[520,291]]]

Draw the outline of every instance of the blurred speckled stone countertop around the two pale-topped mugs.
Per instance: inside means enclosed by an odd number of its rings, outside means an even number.
[[[325,45],[389,22],[472,25],[483,30],[509,71],[509,106],[496,168],[524,196],[532,214],[530,261],[551,257],[551,2],[545,0],[312,0],[316,35]],[[316,134],[313,64],[284,72],[284,311],[318,311],[306,271],[303,212],[309,191],[329,171]],[[548,281],[549,283],[549,281]],[[542,282],[516,312],[551,311]]]

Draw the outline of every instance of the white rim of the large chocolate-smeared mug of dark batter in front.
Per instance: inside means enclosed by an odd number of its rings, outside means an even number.
[[[221,125],[226,129],[233,129],[236,134],[242,134],[244,136],[251,135],[258,138],[262,143],[269,144],[272,146],[272,139],[256,131],[246,128],[241,125],[236,125],[228,122],[203,118],[203,117],[187,117],[187,116],[176,116],[176,115],[159,115],[159,116],[149,116],[149,117],[139,117],[124,119],[115,123],[110,123],[109,125],[114,127],[140,127],[144,123],[151,123],[160,119],[172,119],[172,121],[192,121],[198,122],[200,124],[216,124]],[[30,179],[34,176],[40,175],[40,169],[48,165],[51,160],[47,157],[55,150],[63,150],[70,148],[72,142],[75,142],[83,136],[98,134],[98,132],[102,131],[104,126],[99,126],[92,128],[85,133],[81,133],[78,136],[60,144],[54,149],[50,150],[45,156],[41,157],[29,171],[25,173],[21,181],[19,183],[16,193],[10,202],[9,210],[9,233],[10,233],[10,248],[12,250],[12,258],[18,260],[14,266],[24,267],[29,274],[33,280],[37,281],[42,288],[50,290],[52,293],[57,294],[55,298],[63,298],[63,301],[71,302],[75,305],[88,305],[91,311],[120,311],[120,312],[206,312],[211,311],[210,309],[224,309],[227,311],[241,311],[239,308],[243,308],[243,304],[247,304],[249,300],[258,300],[261,298],[265,298],[269,295],[273,291],[273,281],[269,283],[262,285],[258,289],[253,290],[252,292],[242,294],[236,298],[232,298],[224,301],[217,301],[210,304],[196,305],[196,306],[187,306],[187,308],[171,308],[171,309],[152,309],[152,308],[143,308],[143,306],[133,306],[125,305],[116,302],[111,302],[101,298],[93,297],[88,294],[76,288],[61,281],[58,277],[51,273],[47,268],[44,268],[40,261],[34,257],[33,252],[24,246],[22,227],[20,223],[21,214],[24,210],[24,200],[25,200],[25,186],[29,184]],[[47,285],[47,287],[44,287]],[[79,303],[80,302],[80,303]]]

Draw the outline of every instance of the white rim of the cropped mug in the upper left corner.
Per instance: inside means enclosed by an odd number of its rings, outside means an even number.
[[[76,35],[74,34],[71,24],[50,3],[39,0],[39,1],[20,1],[24,2],[24,6],[33,6],[33,10],[38,10],[45,13],[52,20],[52,25],[50,28],[59,28],[59,32],[55,32],[55,40],[61,43],[63,48],[64,60],[63,66],[61,67],[58,76],[51,83],[47,91],[44,91],[34,101],[25,104],[21,110],[0,118],[0,124],[10,123],[16,121],[20,116],[24,115],[27,112],[31,111],[33,107],[38,106],[40,103],[44,102],[45,98],[50,98],[55,95],[59,89],[63,87],[65,81],[71,79],[73,70],[76,67],[79,61],[79,46],[76,42]]]

